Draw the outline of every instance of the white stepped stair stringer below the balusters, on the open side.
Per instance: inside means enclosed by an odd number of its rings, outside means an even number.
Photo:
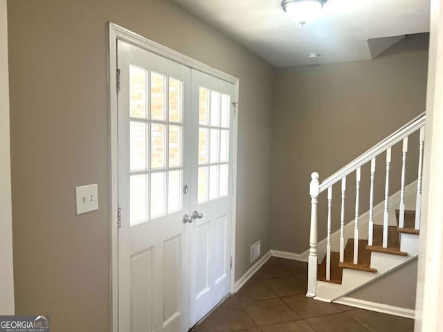
[[[418,238],[418,235],[415,235]],[[342,284],[331,284],[329,282],[317,282],[316,297],[324,302],[333,302],[339,297],[343,297],[357,289],[374,282],[374,280],[383,277],[387,273],[393,270],[397,270],[409,261],[418,257],[418,241],[416,242],[417,248],[411,248],[411,252],[415,255],[400,256],[391,255],[384,252],[372,252],[371,253],[371,267],[377,268],[377,273],[368,273],[361,270],[353,270],[350,268],[343,268]]]

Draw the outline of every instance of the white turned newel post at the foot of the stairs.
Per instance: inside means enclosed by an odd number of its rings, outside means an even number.
[[[311,174],[311,185],[309,194],[311,195],[311,232],[309,237],[309,259],[307,273],[307,294],[308,297],[316,296],[317,287],[317,203],[318,203],[318,173]]]

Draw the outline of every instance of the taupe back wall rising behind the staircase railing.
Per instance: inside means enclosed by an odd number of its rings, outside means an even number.
[[[425,109],[428,34],[409,35],[372,61],[281,68],[275,75],[272,248],[309,247],[311,172],[320,180]],[[417,135],[410,139],[406,183],[417,178]],[[374,203],[383,200],[386,157],[377,158]],[[401,146],[392,152],[391,194],[399,190]],[[370,169],[362,169],[361,212],[369,208]],[[355,174],[347,181],[346,220],[354,219]],[[318,239],[326,236],[326,193]],[[340,223],[333,187],[332,228]],[[320,257],[321,259],[322,257]]]

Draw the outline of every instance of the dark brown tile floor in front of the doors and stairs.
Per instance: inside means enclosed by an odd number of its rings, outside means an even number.
[[[412,332],[414,321],[305,297],[307,264],[272,257],[195,332]]]

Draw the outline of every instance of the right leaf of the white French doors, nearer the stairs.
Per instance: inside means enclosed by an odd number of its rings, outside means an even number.
[[[234,86],[192,71],[190,325],[230,290]],[[198,110],[195,111],[195,110]]]

